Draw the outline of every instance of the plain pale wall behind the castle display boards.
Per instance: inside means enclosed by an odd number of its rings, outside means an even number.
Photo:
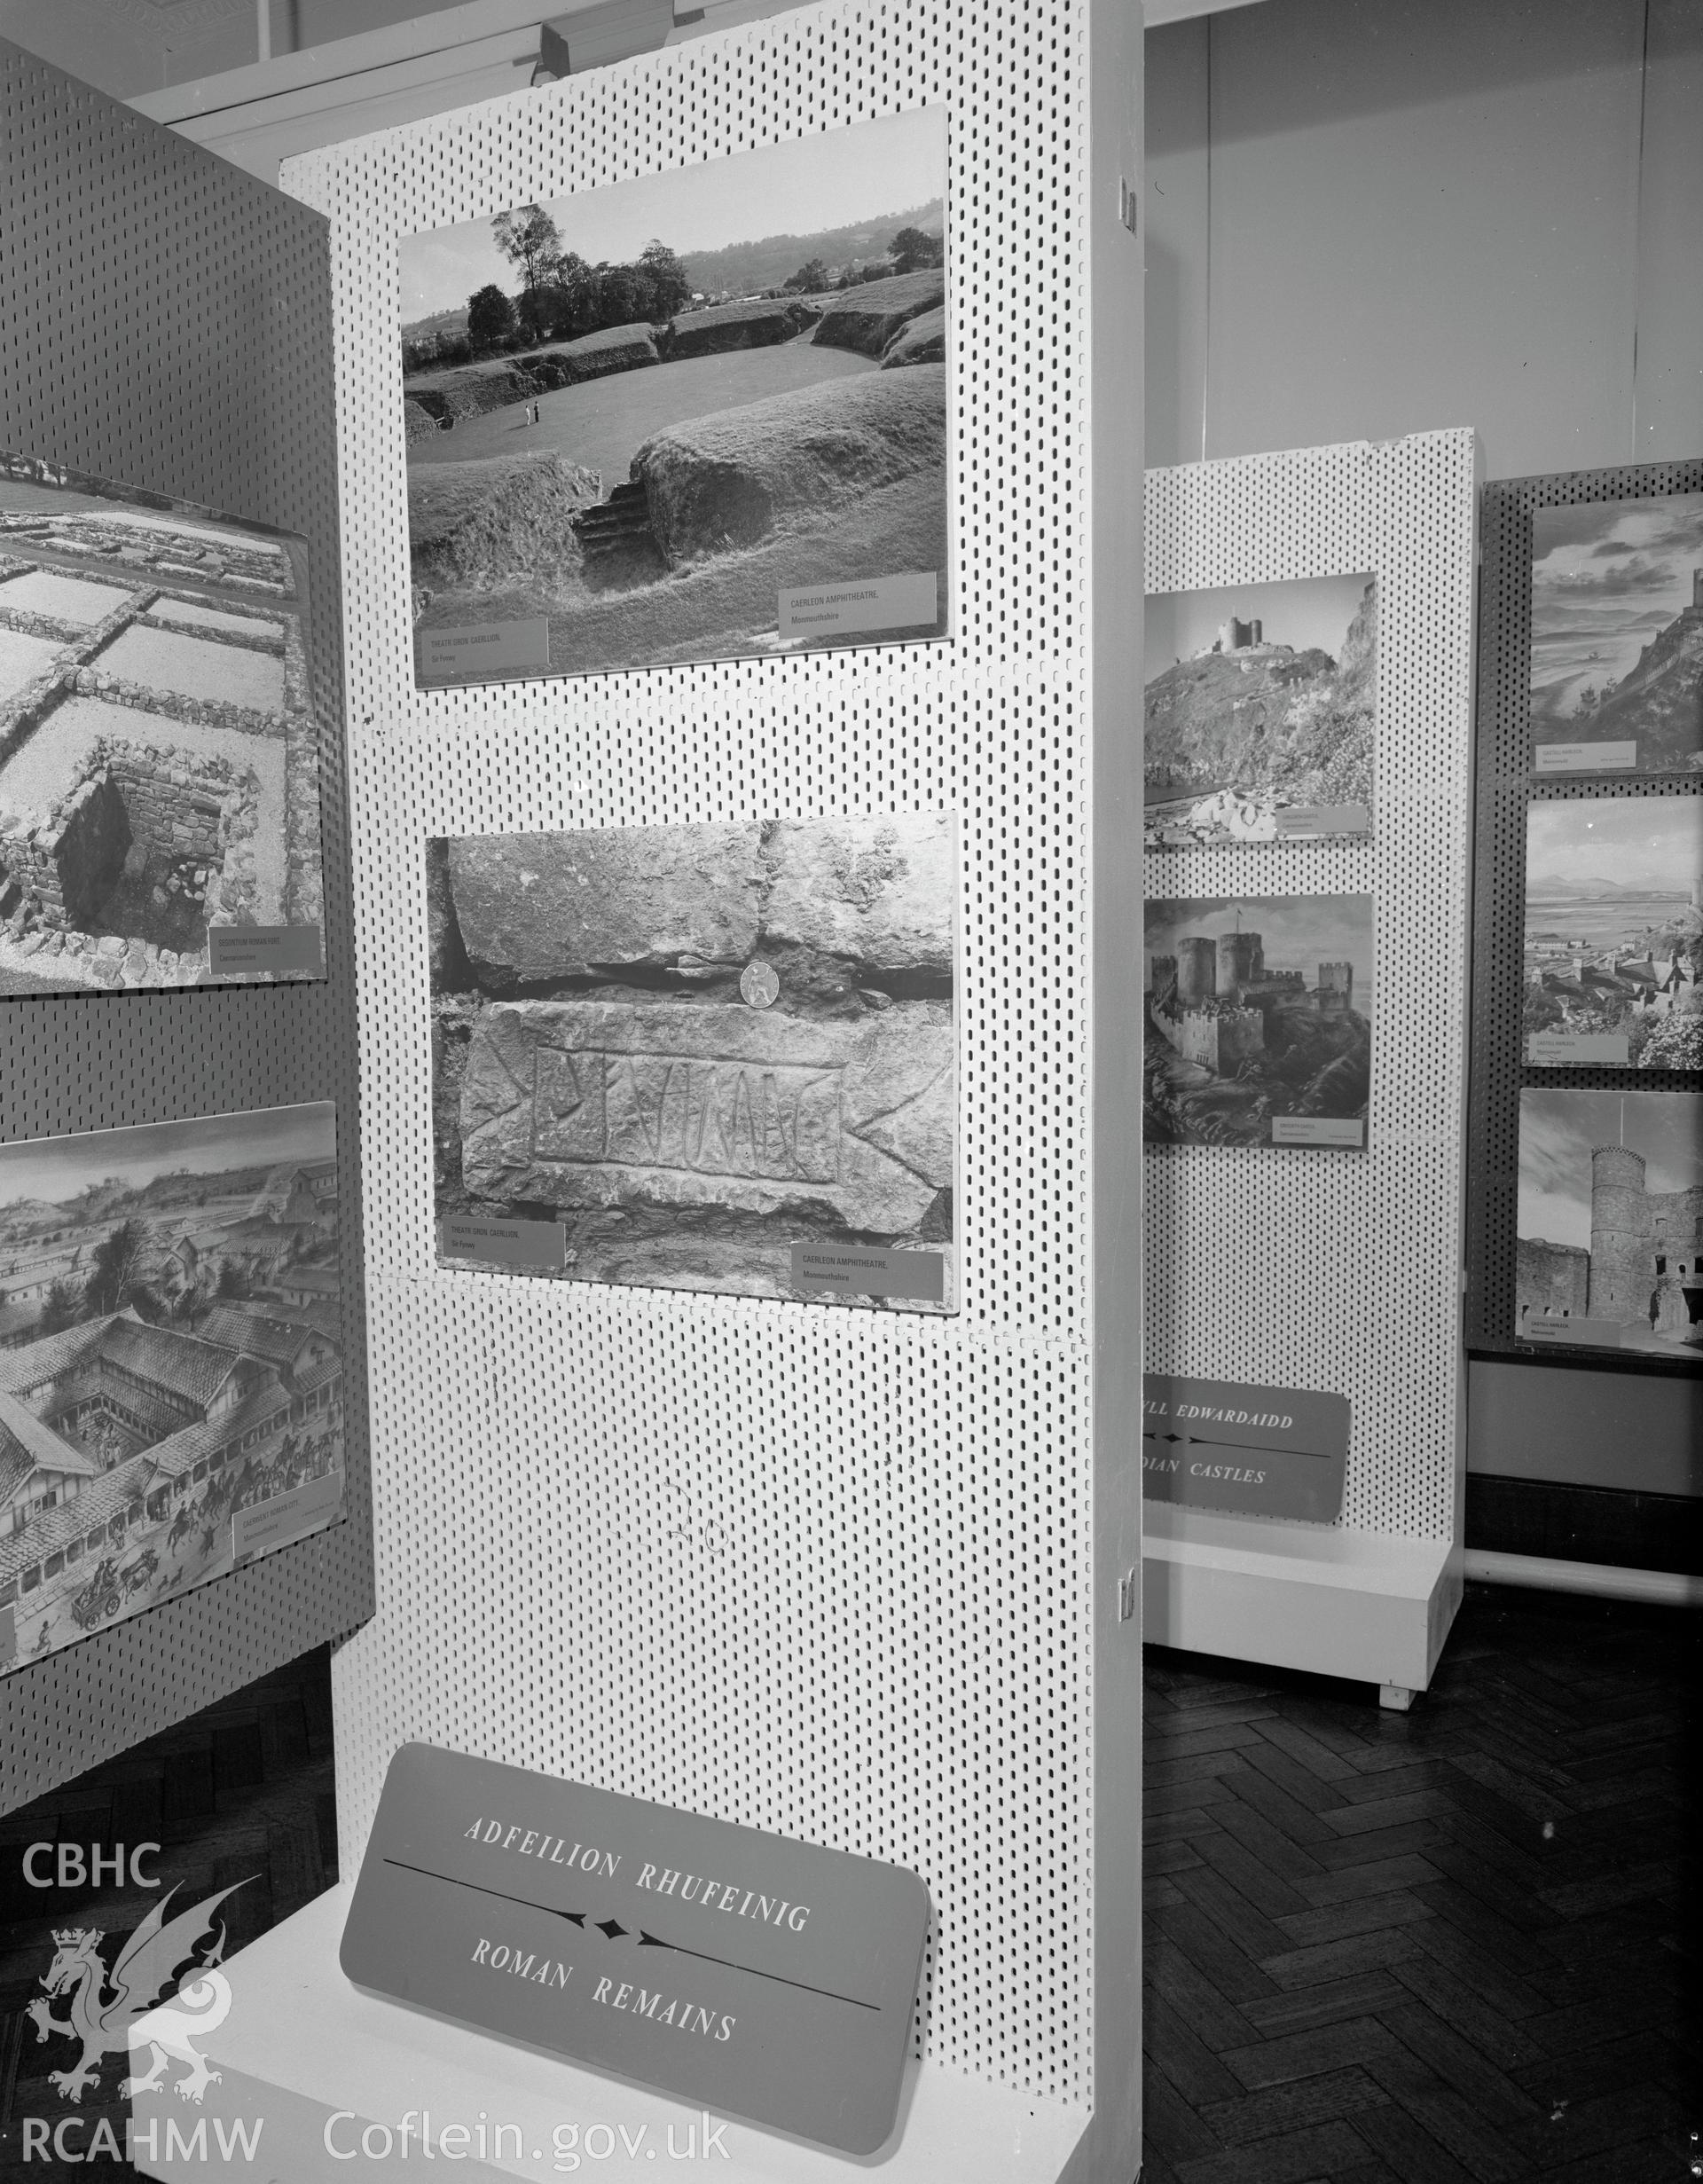
[[[1266,0],[1146,35],[1146,459],[1428,426],[1703,450],[1703,0]],[[1474,1363],[1474,1472],[1703,1494],[1703,1387]]]

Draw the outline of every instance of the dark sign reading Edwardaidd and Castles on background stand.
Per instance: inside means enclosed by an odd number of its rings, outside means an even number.
[[[1343,1511],[1347,1396],[1238,1380],[1142,1380],[1142,1494],[1148,1500],[1290,1516]]]

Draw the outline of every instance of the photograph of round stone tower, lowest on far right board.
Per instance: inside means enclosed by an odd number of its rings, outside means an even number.
[[[1703,1099],[1520,1094],[1513,1337],[1703,1363]]]

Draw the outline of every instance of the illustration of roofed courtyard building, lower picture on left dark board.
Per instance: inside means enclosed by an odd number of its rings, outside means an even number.
[[[0,1673],[343,1518],[330,1103],[0,1147]]]

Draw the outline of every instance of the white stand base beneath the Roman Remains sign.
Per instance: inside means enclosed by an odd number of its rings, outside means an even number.
[[[231,2009],[216,2031],[194,2035],[221,2075],[201,2105],[175,2090],[188,2075],[181,2062],[170,2064],[157,2092],[135,2094],[131,2158],[144,2175],[177,2184],[207,2184],[218,2173],[251,2175],[255,2184],[334,2184],[343,2177],[365,2184],[376,2171],[415,2184],[557,2175],[620,2175],[627,2184],[638,2177],[659,2184],[670,2175],[725,2184],[845,2184],[847,2175],[867,2169],[893,2184],[1055,2184],[1087,2127],[1085,2108],[1031,2101],[937,2064],[910,2064],[900,2129],[882,2153],[858,2160],[749,2123],[727,2123],[705,2156],[701,2108],[352,1987],[336,1961],[352,1891],[352,1883],[327,1889],[221,1968]],[[146,2068],[146,2055],[140,2066]],[[341,2110],[349,2114],[332,2125],[327,2147],[325,2127]],[[430,2112],[434,2143],[445,2125],[467,2127],[461,2158],[452,2138],[452,2149],[434,2145],[432,2167],[424,2167],[424,2112]],[[395,2134],[408,2114],[406,2153],[393,2138],[386,2156],[378,2132],[362,2151],[365,2127]],[[234,2123],[253,2129],[258,2118],[262,2136],[253,2158],[240,2151],[225,2158],[221,2145],[231,2143]],[[480,2121],[485,2160],[478,2156]],[[205,2132],[196,2143],[201,2123]],[[500,2123],[520,2127],[520,2153],[513,2132],[498,2151]],[[590,2149],[587,2132],[594,2134]],[[356,2158],[338,2160],[338,2153]]]

